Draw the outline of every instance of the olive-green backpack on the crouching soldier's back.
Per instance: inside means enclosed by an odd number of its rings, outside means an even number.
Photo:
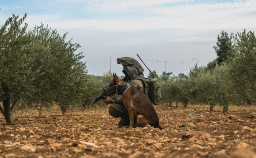
[[[158,79],[155,78],[145,78],[143,77],[142,83],[144,85],[144,93],[149,98],[151,103],[158,105],[161,103],[161,86]]]

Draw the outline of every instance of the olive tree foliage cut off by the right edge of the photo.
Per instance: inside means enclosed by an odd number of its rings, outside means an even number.
[[[229,75],[233,81],[234,101],[237,104],[256,101],[256,36],[249,31],[234,38],[235,58],[231,60]]]

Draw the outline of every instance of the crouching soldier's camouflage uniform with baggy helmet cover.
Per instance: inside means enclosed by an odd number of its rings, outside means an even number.
[[[144,77],[144,69],[140,63],[130,57],[117,58],[117,63],[122,64],[126,70],[126,73],[130,78],[128,83],[144,93],[144,86],[141,81]],[[116,118],[121,117],[121,120],[118,123],[118,128],[130,125],[129,114],[122,102],[122,98],[115,99],[114,104],[109,106],[109,114]]]

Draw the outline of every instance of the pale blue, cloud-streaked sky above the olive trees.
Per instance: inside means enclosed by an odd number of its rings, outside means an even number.
[[[217,36],[255,31],[256,0],[1,0],[0,26],[28,14],[79,43],[88,74],[122,74],[120,57],[132,57],[149,70],[188,74],[198,63],[216,59]],[[140,61],[138,56],[146,64]]]

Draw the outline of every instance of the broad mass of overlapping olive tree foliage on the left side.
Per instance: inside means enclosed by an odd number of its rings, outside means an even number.
[[[79,103],[82,83],[87,82],[86,65],[80,61],[84,56],[74,53],[80,45],[43,24],[26,32],[27,24],[21,26],[25,18],[13,15],[0,28],[0,110],[7,123],[12,123],[18,100],[40,106],[54,101],[65,112]]]

